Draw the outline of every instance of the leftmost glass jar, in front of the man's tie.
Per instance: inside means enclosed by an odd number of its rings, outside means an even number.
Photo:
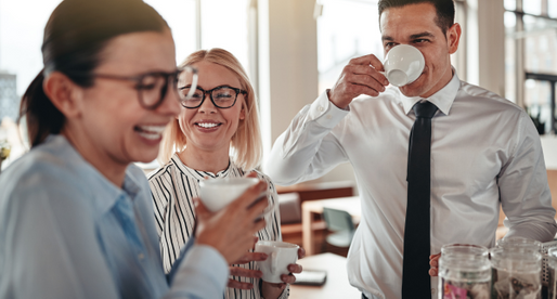
[[[477,245],[451,244],[441,248],[439,299],[489,299],[489,250]]]

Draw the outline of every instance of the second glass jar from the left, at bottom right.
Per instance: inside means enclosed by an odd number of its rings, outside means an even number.
[[[495,247],[491,251],[492,297],[540,299],[542,255],[535,250]]]

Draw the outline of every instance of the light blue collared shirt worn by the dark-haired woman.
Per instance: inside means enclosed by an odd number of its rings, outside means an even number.
[[[51,135],[0,176],[0,298],[222,298],[223,257],[195,245],[182,258],[169,286],[133,165],[117,187]]]

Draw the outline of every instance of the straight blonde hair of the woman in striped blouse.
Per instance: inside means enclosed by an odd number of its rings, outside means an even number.
[[[181,67],[192,65],[202,61],[224,66],[239,80],[241,88],[247,91],[244,96],[245,118],[239,120],[238,128],[230,145],[232,147],[232,160],[244,170],[257,168],[261,162],[262,144],[261,130],[259,129],[259,113],[256,95],[246,72],[238,60],[229,51],[213,48],[210,50],[196,51],[185,58]],[[186,146],[185,134],[180,129],[178,119],[173,119],[165,130],[158,161],[167,164],[174,152],[181,152]]]

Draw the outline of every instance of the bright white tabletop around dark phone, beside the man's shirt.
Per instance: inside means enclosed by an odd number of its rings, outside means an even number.
[[[298,260],[303,269],[324,270],[327,281],[322,286],[290,285],[289,299],[360,299],[362,292],[348,283],[346,258],[333,253],[322,253]]]

